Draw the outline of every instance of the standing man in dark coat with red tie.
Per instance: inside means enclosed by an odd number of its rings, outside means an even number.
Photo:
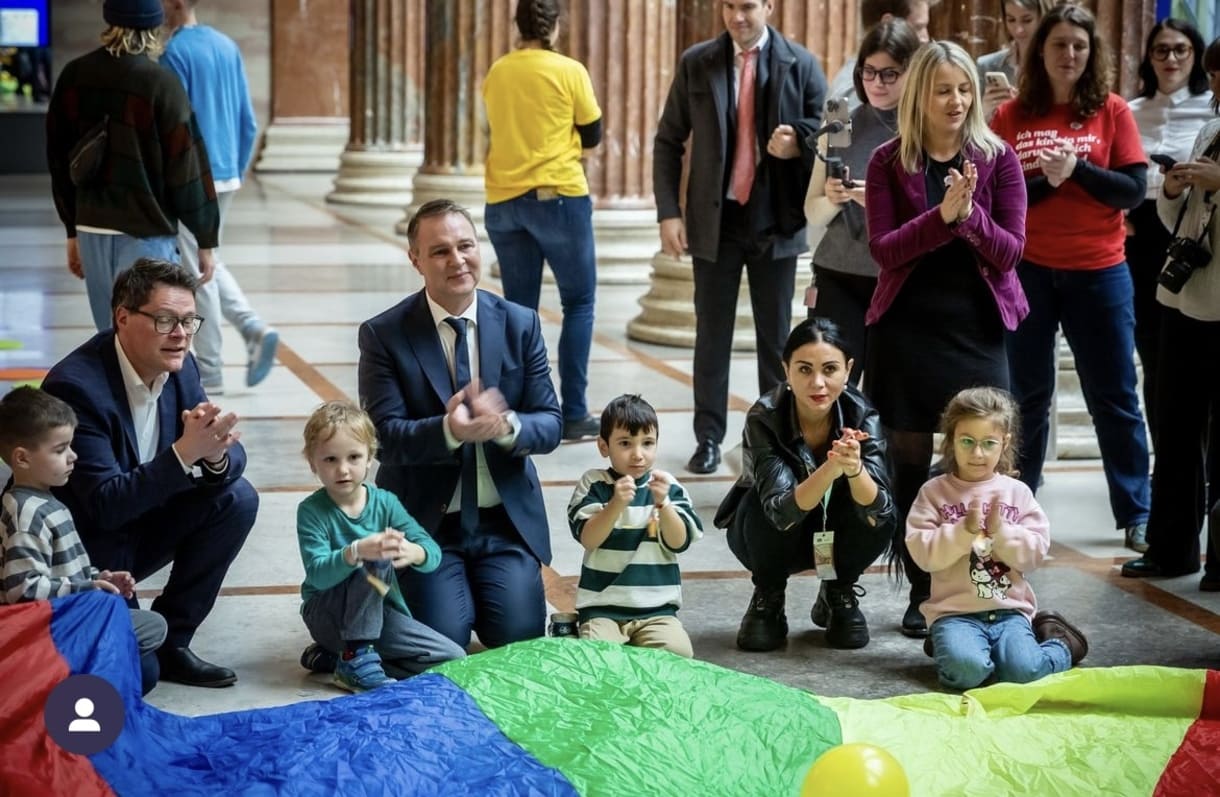
[[[826,77],[808,50],[767,26],[770,0],[725,0],[726,33],[678,61],[656,128],[653,190],[661,249],[694,261],[694,433],[687,470],[720,464],[728,358],[745,265],[758,343],[759,392],[783,381],[797,255],[805,242],[805,190]],[[686,220],[682,155],[691,144]]]

